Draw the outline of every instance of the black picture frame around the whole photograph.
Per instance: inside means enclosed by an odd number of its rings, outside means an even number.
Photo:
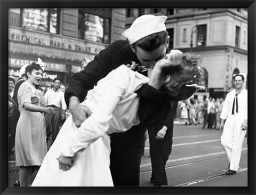
[[[248,187],[130,187],[130,188],[17,188],[8,186],[8,150],[7,150],[7,77],[8,77],[8,9],[9,8],[248,8],[248,91],[249,91],[249,132],[248,132]],[[255,24],[256,3],[255,0],[73,0],[73,1],[34,1],[34,0],[0,0],[1,14],[1,55],[0,55],[0,193],[1,194],[255,194]],[[250,131],[251,130],[251,131]]]

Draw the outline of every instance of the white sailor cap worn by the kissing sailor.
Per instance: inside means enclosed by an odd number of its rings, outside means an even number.
[[[167,17],[165,15],[141,15],[134,20],[131,27],[122,34],[130,44],[133,44],[143,37],[166,30],[164,24]]]

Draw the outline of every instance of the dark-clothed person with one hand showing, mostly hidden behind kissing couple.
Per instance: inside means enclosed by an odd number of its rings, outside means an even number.
[[[172,152],[173,119],[177,107],[178,102],[172,102],[166,120],[154,127],[148,127],[149,154],[152,166],[150,182],[154,183],[154,186],[168,184],[165,165]]]

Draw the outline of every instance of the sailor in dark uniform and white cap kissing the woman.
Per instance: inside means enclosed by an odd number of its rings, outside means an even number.
[[[91,113],[89,108],[79,103],[84,101],[87,92],[111,70],[121,64],[131,64],[132,70],[147,75],[144,68],[153,68],[156,61],[164,58],[169,46],[166,19],[163,15],[142,15],[137,18],[123,33],[127,40],[116,40],[111,43],[100,51],[84,70],[73,75],[65,93],[65,100],[77,127]],[[137,91],[140,96],[138,115],[141,123],[132,127],[130,131],[113,133],[110,136],[110,170],[114,186],[139,186],[140,162],[145,147],[147,123],[163,117],[170,107],[166,92],[162,91],[161,86],[162,84],[155,85],[154,82],[143,85]],[[194,89],[190,90],[189,94],[192,95]],[[184,96],[187,97],[189,94]],[[175,96],[173,100],[182,99]],[[148,112],[154,112],[154,117],[147,118]]]

